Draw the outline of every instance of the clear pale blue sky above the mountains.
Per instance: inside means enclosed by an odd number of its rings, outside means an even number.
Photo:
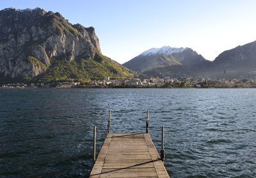
[[[125,63],[152,47],[189,47],[214,60],[256,40],[255,0],[7,0],[4,8],[58,11],[72,24],[95,27],[102,53]]]

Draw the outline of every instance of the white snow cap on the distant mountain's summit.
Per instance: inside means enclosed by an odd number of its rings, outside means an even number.
[[[149,50],[146,50],[145,52],[141,53],[141,56],[150,56],[154,54],[170,55],[173,53],[183,52],[184,50],[187,50],[187,49],[188,48],[172,48],[169,46],[164,46],[161,48],[150,48]]]

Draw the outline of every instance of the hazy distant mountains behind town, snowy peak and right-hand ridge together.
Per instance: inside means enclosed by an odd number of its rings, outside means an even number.
[[[208,61],[191,48],[150,48],[134,57],[125,67],[159,77],[256,77],[256,41],[221,53]]]

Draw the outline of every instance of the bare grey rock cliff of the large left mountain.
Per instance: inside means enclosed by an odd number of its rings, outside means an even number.
[[[0,11],[0,77],[35,77],[51,59],[93,59],[95,52],[101,53],[93,27],[42,8]]]

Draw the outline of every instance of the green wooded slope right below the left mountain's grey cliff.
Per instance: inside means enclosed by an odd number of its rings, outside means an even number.
[[[104,77],[125,79],[134,76],[136,73],[103,56],[100,52],[96,52],[94,59],[76,61],[52,59],[49,69],[37,78],[45,82],[52,80],[89,82],[90,80],[102,80]]]

